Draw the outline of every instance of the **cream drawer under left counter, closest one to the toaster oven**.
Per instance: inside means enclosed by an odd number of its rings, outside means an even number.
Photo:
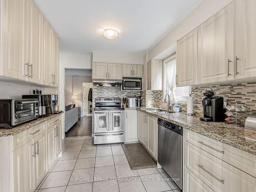
[[[40,123],[31,127],[30,129],[23,131],[13,136],[13,150],[24,145],[25,143],[32,140],[34,137],[40,135],[46,131],[46,123]]]

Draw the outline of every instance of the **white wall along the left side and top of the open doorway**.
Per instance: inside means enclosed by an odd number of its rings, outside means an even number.
[[[65,111],[65,69],[92,69],[91,54],[59,53],[59,108]],[[62,138],[65,137],[65,115],[62,114]]]

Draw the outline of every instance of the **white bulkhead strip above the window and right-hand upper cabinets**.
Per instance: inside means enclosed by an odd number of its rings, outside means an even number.
[[[220,11],[232,1],[233,0],[203,1],[175,29],[173,29],[153,49],[149,51],[148,59],[157,57],[160,53],[175,44],[178,39],[201,25],[203,22],[205,22],[205,20]]]

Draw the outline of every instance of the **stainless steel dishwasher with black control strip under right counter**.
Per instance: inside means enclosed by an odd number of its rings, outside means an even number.
[[[183,127],[158,119],[158,163],[182,189]]]

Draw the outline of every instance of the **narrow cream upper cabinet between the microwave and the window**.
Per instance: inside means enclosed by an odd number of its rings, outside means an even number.
[[[163,60],[147,62],[147,90],[163,90]]]

